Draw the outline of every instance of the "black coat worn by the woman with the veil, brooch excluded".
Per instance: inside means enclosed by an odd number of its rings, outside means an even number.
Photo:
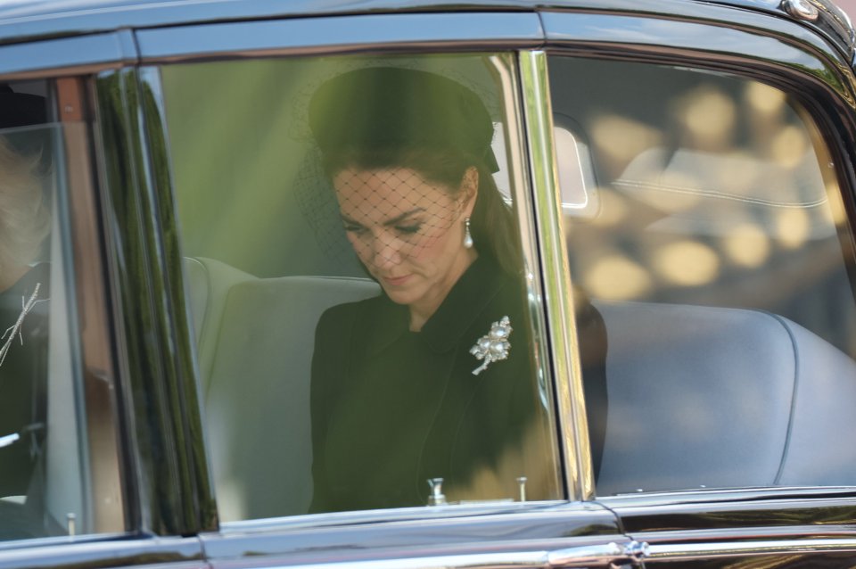
[[[325,312],[312,360],[312,511],[422,506],[437,477],[450,500],[516,498],[517,476],[530,499],[561,495],[521,285],[481,256],[421,332],[385,295]],[[508,358],[473,375],[470,350],[502,317],[514,328]]]

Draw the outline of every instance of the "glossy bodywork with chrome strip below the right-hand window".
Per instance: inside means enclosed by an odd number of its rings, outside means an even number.
[[[841,567],[856,564],[856,550],[799,550],[793,544],[811,540],[852,541],[856,532],[856,491],[852,488],[757,489],[634,495],[603,502],[621,518],[624,532],[656,549],[668,544],[671,555],[646,560],[646,567]],[[778,542],[792,543],[785,553]],[[735,544],[768,548],[767,555],[724,553]],[[679,554],[699,548],[721,549],[718,555]]]

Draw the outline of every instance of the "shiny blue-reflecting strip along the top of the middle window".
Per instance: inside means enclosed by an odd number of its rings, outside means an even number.
[[[374,50],[383,45],[455,42],[505,49],[541,45],[531,12],[372,14],[280,21],[233,22],[136,31],[144,63],[188,61],[212,55],[243,57],[330,50]]]

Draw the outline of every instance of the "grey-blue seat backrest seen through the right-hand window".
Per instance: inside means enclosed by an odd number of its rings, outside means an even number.
[[[598,494],[852,484],[856,363],[750,309],[597,301],[609,411]]]

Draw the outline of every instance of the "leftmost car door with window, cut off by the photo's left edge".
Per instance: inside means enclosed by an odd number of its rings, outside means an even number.
[[[145,458],[132,449],[136,437],[154,441],[162,431],[150,436],[151,424],[124,412],[134,406],[128,378],[138,370],[116,335],[113,301],[122,295],[113,277],[127,273],[105,230],[116,227],[115,202],[93,94],[95,74],[133,62],[128,32],[24,41],[8,13],[0,25],[0,563],[202,566],[195,538],[149,539]]]

